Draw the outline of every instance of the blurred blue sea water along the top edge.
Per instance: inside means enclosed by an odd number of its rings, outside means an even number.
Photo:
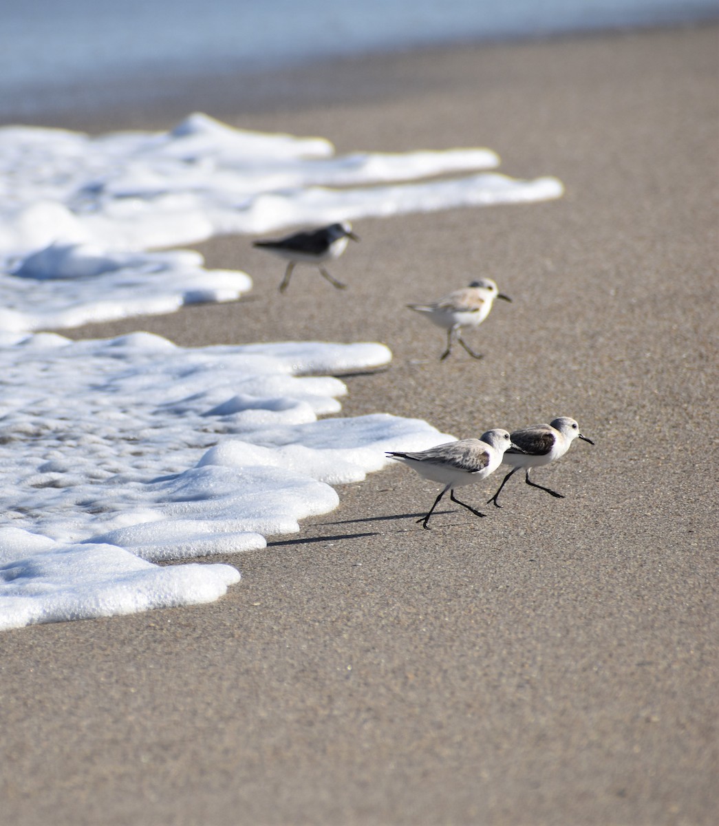
[[[0,116],[134,77],[140,94],[173,75],[717,17],[719,0],[3,0]]]

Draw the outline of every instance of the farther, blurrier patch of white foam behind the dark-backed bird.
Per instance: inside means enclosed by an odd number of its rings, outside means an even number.
[[[207,270],[196,252],[150,249],[561,196],[556,178],[477,173],[498,164],[485,149],[338,157],[323,138],[242,131],[200,114],[163,133],[90,137],[7,126],[0,129],[0,330],[164,313],[233,301],[252,287],[246,273]]]

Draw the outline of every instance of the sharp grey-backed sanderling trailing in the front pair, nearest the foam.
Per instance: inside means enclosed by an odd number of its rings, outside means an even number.
[[[459,501],[454,495],[454,489],[481,482],[482,479],[488,477],[491,472],[499,468],[502,455],[509,448],[522,450],[518,445],[512,444],[507,430],[494,428],[494,430],[487,430],[483,433],[480,439],[461,439],[459,442],[438,444],[434,448],[420,450],[418,453],[389,451],[387,456],[417,471],[421,477],[431,479],[433,482],[441,482],[444,485],[442,492],[429,509],[428,515],[417,520],[422,523],[425,530],[428,530],[429,517],[447,491],[450,491],[450,499],[457,505],[471,510],[475,516],[485,515]]]

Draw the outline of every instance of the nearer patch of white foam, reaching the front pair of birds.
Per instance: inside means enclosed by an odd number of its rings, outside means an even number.
[[[237,553],[338,505],[386,450],[452,439],[340,411],[382,344],[200,349],[135,333],[0,335],[0,629],[215,600]],[[309,375],[309,374],[312,375]],[[320,375],[315,375],[320,373]]]

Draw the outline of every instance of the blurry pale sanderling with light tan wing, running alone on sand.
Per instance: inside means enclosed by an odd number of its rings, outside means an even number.
[[[491,278],[480,278],[471,282],[469,287],[450,292],[433,304],[408,304],[410,310],[425,313],[433,324],[447,330],[447,349],[440,361],[452,353],[454,339],[466,349],[472,358],[482,358],[480,353],[470,349],[460,335],[461,327],[478,327],[490,314],[495,298],[512,301],[503,295]]]

